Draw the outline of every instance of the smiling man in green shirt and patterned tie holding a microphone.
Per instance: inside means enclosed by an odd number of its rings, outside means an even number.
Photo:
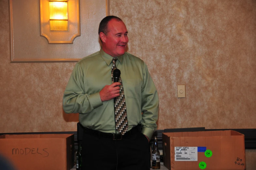
[[[127,34],[120,18],[105,17],[99,25],[101,50],[76,63],[64,92],[64,111],[79,113],[84,127],[83,169],[150,169],[158,94],[146,64],[125,52]],[[115,69],[119,82],[111,78]]]

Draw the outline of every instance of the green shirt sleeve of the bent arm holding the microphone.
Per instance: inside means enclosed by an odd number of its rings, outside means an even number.
[[[79,63],[76,63],[63,95],[63,110],[65,113],[90,113],[103,105],[100,93],[85,94],[84,73]]]

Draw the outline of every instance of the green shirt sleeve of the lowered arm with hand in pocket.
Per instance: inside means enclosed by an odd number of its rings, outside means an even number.
[[[158,119],[159,99],[154,82],[148,72],[148,67],[143,66],[143,85],[141,90],[142,133],[150,139],[156,131]]]

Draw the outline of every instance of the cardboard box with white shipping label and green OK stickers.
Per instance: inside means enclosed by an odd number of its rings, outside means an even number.
[[[245,140],[237,131],[163,133],[169,170],[244,170]]]

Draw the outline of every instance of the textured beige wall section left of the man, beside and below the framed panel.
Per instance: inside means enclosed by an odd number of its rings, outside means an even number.
[[[78,115],[62,110],[75,63],[10,63],[8,16],[0,0],[0,132],[75,131]]]

